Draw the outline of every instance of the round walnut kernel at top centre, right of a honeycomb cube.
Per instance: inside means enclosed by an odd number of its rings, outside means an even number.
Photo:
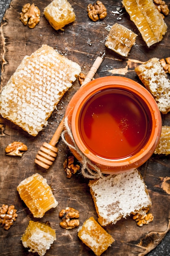
[[[101,1],[97,1],[96,4],[88,4],[87,6],[88,17],[93,20],[104,20],[107,16],[107,10]]]

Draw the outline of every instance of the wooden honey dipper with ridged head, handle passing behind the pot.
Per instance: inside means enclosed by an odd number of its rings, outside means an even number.
[[[97,69],[99,68],[102,61],[103,61],[103,56],[102,57],[98,56],[96,58],[95,62],[93,63],[93,66],[88,72],[81,87],[93,79],[93,76],[97,72]],[[53,164],[53,161],[55,160],[55,157],[57,156],[57,152],[58,152],[58,149],[56,148],[56,144],[60,139],[60,135],[63,131],[63,128],[64,128],[64,117],[60,122],[59,126],[57,127],[57,130],[55,131],[51,141],[49,143],[44,142],[40,147],[40,150],[38,151],[35,157],[36,164],[38,164],[39,166],[45,169],[48,169]]]

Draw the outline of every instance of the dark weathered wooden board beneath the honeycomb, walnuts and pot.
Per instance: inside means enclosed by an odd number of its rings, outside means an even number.
[[[25,55],[30,55],[42,44],[52,46],[61,54],[79,63],[82,72],[85,74],[87,74],[95,58],[105,51],[105,59],[95,77],[118,74],[139,83],[141,82],[134,72],[136,65],[152,57],[166,58],[170,56],[170,14],[165,18],[168,31],[163,40],[148,48],[125,9],[122,8],[121,1],[103,1],[108,11],[107,17],[103,21],[92,22],[86,13],[89,1],[70,0],[69,2],[76,14],[76,20],[67,25],[64,31],[55,31],[43,16],[43,9],[49,2],[51,1],[34,1],[41,11],[40,23],[34,29],[29,29],[19,20],[19,13],[27,1],[13,0],[11,2],[0,28],[2,86],[5,86],[22,58]],[[166,2],[170,4],[170,1]],[[117,8],[120,8],[119,14],[115,14]],[[128,58],[123,58],[104,46],[108,34],[106,28],[115,22],[125,25],[138,34],[136,45],[132,47]],[[70,254],[70,252],[79,256],[94,255],[77,237],[77,229],[65,230],[59,225],[58,213],[67,206],[79,210],[80,225],[91,216],[97,220],[97,214],[87,185],[88,180],[84,179],[81,173],[73,175],[71,179],[66,178],[63,162],[69,150],[64,142],[59,141],[57,159],[48,171],[34,164],[35,155],[40,146],[44,141],[50,141],[58,123],[64,116],[67,103],[78,88],[79,82],[76,81],[60,101],[57,110],[52,113],[48,126],[36,137],[28,135],[18,126],[0,117],[0,123],[5,126],[4,134],[0,133],[0,205],[14,204],[18,211],[18,218],[9,231],[0,227],[0,255],[32,255],[22,246],[20,238],[29,220],[37,219],[33,218],[29,209],[20,199],[16,187],[24,178],[37,172],[47,179],[47,182],[53,188],[55,198],[59,202],[55,209],[48,211],[41,219],[43,222],[48,220],[51,223],[51,227],[55,229],[57,236],[57,241],[51,246],[46,256],[64,256]],[[162,115],[162,122],[163,125],[170,126],[170,114]],[[27,145],[28,150],[22,157],[5,155],[5,147],[13,141],[22,141]],[[152,199],[150,212],[154,215],[154,221],[149,225],[138,227],[132,217],[128,217],[127,220],[120,220],[116,225],[109,225],[106,230],[115,238],[115,242],[103,255],[146,255],[161,242],[170,229],[170,156],[152,155],[141,166],[140,171]]]

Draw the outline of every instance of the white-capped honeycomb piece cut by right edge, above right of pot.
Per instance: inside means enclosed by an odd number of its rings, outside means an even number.
[[[154,97],[162,114],[167,114],[170,111],[170,79],[163,70],[159,58],[151,58],[135,67],[135,72]]]

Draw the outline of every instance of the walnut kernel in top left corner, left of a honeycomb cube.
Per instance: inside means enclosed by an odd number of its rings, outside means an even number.
[[[20,12],[20,20],[25,26],[28,23],[29,28],[33,29],[40,21],[40,10],[34,4],[24,4]]]

